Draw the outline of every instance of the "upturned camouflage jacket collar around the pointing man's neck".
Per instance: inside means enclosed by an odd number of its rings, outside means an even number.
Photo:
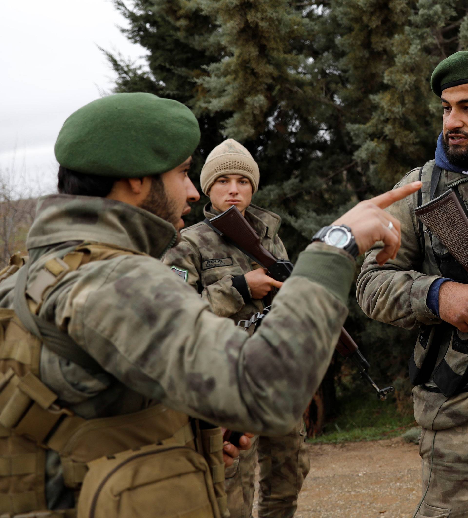
[[[26,247],[30,250],[82,240],[160,257],[176,236],[173,225],[139,207],[97,196],[52,194],[37,202]]]

